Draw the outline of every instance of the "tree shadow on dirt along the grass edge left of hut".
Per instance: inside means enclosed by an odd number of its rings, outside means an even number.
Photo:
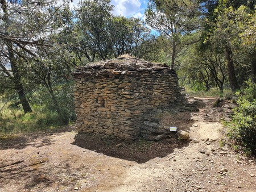
[[[71,127],[65,126],[32,133],[0,135],[0,150],[23,149],[27,146],[42,147],[44,145],[51,145],[51,135],[66,132],[70,129]]]

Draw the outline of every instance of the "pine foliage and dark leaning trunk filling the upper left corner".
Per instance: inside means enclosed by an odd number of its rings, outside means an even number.
[[[0,87],[5,93],[7,89],[15,90],[24,112],[31,112],[24,88],[29,82],[28,68],[34,61],[48,61],[47,51],[56,47],[53,36],[69,20],[69,3],[3,0],[0,4]]]

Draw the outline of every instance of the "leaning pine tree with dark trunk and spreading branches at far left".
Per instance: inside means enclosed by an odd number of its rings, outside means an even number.
[[[34,59],[36,49],[49,47],[47,37],[52,34],[52,23],[57,19],[60,7],[53,7],[51,0],[5,1],[1,0],[0,63],[2,73],[12,82],[19,95],[24,112],[31,112],[23,86],[22,65]]]

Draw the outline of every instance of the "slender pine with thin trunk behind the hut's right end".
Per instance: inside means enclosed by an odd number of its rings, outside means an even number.
[[[183,49],[181,38],[188,30],[184,22],[187,17],[179,10],[170,9],[166,3],[149,1],[145,12],[146,23],[160,32],[161,36],[158,37],[158,41],[162,45],[161,49],[166,52],[167,57],[170,57],[171,68],[176,69],[176,58],[179,57],[179,53]]]

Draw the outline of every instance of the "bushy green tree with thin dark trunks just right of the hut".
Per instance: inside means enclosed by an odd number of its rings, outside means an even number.
[[[200,43],[193,44],[188,48],[187,55],[181,62],[179,73],[185,76],[181,77],[182,79],[195,81],[195,85],[199,87],[204,85],[206,91],[215,85],[223,93],[227,76],[225,55],[214,45],[201,49]]]

